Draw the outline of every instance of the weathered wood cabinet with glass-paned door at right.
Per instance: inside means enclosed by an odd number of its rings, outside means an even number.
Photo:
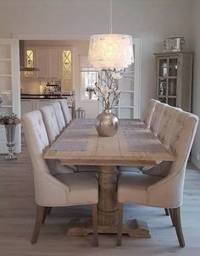
[[[162,103],[191,111],[193,53],[154,53],[157,98]]]

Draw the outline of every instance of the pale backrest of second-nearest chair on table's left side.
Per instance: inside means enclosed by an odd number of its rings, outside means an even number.
[[[52,144],[60,133],[55,110],[52,105],[47,105],[42,107],[40,111],[47,130],[48,141]]]

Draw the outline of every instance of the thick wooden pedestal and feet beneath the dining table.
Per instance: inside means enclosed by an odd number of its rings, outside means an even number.
[[[116,166],[100,166],[98,172],[98,233],[117,233],[118,203]],[[87,236],[92,233],[92,221],[71,221],[67,236]],[[130,237],[150,237],[147,223],[142,220],[127,220],[122,229]]]

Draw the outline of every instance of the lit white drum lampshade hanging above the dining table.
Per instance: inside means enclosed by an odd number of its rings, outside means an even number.
[[[132,36],[93,35],[88,60],[96,70],[125,69],[134,62]]]

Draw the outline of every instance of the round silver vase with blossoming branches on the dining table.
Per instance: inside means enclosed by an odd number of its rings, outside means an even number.
[[[118,131],[119,120],[118,117],[111,113],[111,109],[119,103],[120,93],[118,82],[121,78],[120,72],[112,70],[103,70],[105,79],[99,81],[101,85],[95,83],[95,94],[97,99],[103,103],[103,113],[97,115],[96,129],[99,136],[114,136]]]

